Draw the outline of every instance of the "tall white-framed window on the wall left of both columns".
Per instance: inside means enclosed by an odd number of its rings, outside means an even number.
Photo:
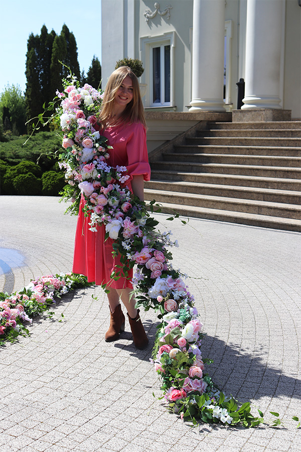
[[[147,107],[173,106],[174,47],[175,32],[140,38],[140,59],[144,66],[142,82],[147,84]]]

